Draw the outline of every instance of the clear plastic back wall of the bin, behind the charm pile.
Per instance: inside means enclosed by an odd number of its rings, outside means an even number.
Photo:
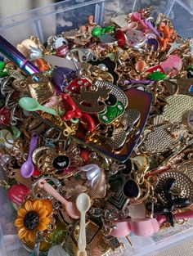
[[[102,25],[104,19],[107,21],[118,14],[148,6],[154,8],[152,16],[164,13],[173,20],[178,34],[193,38],[191,0],[65,0],[0,19],[0,34],[15,45],[30,35],[38,36],[45,42],[52,34],[86,24],[89,15],[93,15],[95,22]]]

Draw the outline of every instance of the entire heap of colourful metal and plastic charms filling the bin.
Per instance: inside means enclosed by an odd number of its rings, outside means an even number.
[[[170,20],[89,16],[0,52],[1,185],[32,255],[118,254],[193,217],[191,40]]]

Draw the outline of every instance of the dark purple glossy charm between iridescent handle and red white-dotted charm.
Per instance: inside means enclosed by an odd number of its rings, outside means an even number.
[[[58,67],[53,71],[53,83],[56,92],[60,95],[68,83],[77,78],[76,71],[64,67]]]

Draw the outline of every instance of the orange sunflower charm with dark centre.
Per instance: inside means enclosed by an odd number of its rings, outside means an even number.
[[[27,200],[17,212],[15,226],[20,240],[34,243],[37,231],[44,231],[51,222],[52,203],[50,200]]]

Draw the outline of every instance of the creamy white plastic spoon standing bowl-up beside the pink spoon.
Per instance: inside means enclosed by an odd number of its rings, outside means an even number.
[[[79,229],[79,240],[78,240],[78,251],[77,256],[87,256],[86,252],[86,225],[85,225],[85,214],[91,207],[90,197],[82,193],[77,197],[76,207],[80,212],[80,229]]]

